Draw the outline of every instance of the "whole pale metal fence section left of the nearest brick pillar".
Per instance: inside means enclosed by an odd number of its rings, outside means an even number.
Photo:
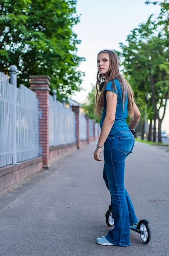
[[[36,93],[0,72],[0,167],[38,156],[38,112]]]

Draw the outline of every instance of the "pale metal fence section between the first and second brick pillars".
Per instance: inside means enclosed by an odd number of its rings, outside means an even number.
[[[75,114],[72,108],[49,95],[49,146],[76,142]]]

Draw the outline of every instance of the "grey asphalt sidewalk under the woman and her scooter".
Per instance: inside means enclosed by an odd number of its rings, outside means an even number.
[[[95,239],[110,229],[105,222],[110,195],[102,178],[103,154],[102,162],[93,159],[95,144],[0,196],[0,255],[168,255],[169,201],[149,200],[169,199],[169,153],[136,142],[126,159],[126,189],[137,217],[150,221],[152,241],[143,244],[131,231],[131,246],[101,246]]]

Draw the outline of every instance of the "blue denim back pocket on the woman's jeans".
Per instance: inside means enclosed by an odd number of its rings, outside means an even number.
[[[118,137],[118,149],[125,153],[129,153],[133,148],[134,137],[131,136],[119,136]]]

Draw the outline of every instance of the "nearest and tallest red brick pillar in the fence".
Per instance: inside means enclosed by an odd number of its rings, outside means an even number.
[[[30,89],[39,99],[39,145],[43,157],[43,168],[48,168],[49,163],[49,76],[29,76]]]

